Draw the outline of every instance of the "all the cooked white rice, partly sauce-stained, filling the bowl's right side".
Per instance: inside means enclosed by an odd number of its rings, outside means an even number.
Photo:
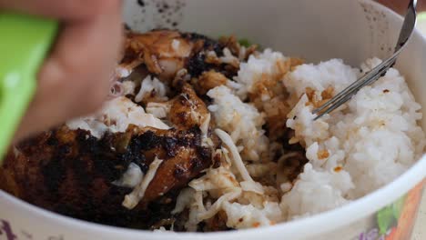
[[[245,101],[256,91],[253,87],[262,81],[262,75],[277,72],[279,61],[287,58],[270,50],[252,55],[248,63],[241,63],[235,82],[208,92],[214,100],[208,109],[218,127],[231,136],[250,175],[277,174],[268,171],[271,165],[276,166],[268,158],[252,164],[267,151],[269,140],[261,128],[265,113]],[[378,64],[379,59],[370,59],[360,69],[365,73]],[[396,69],[391,68],[331,115],[312,120],[308,89],[320,103],[323,91],[331,86],[335,95],[362,74],[360,69],[332,59],[318,65],[299,65],[284,75],[280,81],[288,91],[289,105],[294,106],[287,122],[296,134],[291,142],[306,147],[309,163],[292,183],[262,185],[263,194],[244,189],[244,177],[233,161],[209,169],[189,184],[192,190],[183,191],[178,198],[178,211],[184,209],[183,205],[189,208],[188,230],[195,230],[200,221],[219,211],[226,213],[228,227],[238,229],[327,211],[386,185],[419,159],[425,145],[424,133],[417,125],[422,117],[421,105]],[[267,101],[268,95],[263,98]],[[224,159],[232,157],[229,151],[229,147],[223,148]]]

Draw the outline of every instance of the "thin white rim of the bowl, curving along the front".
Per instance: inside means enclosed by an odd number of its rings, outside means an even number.
[[[396,14],[391,9],[379,3],[371,0],[367,1],[369,4],[374,5],[387,15],[393,18],[397,18],[402,23],[402,16]],[[422,45],[426,46],[426,38],[421,35],[420,31],[416,28],[412,37],[421,39]],[[424,106],[426,107],[426,106]],[[227,231],[227,232],[212,232],[212,233],[176,233],[171,231],[166,232],[152,232],[147,230],[136,230],[125,227],[117,227],[110,225],[100,225],[84,220],[79,220],[66,215],[59,215],[54,212],[48,211],[41,207],[31,205],[25,201],[7,194],[5,191],[0,190],[0,204],[3,201],[8,202],[11,205],[15,205],[17,208],[21,208],[22,211],[26,211],[32,215],[40,217],[41,219],[46,218],[55,221],[58,225],[66,226],[70,229],[86,231],[87,233],[102,233],[104,235],[120,235],[121,237],[131,236],[132,238],[138,237],[152,237],[153,235],[161,234],[162,238],[179,238],[179,239],[219,239],[222,237],[253,237],[253,235],[265,235],[274,233],[285,233],[286,237],[297,237],[303,235],[305,237],[312,235],[319,235],[322,233],[330,232],[338,229],[341,226],[349,225],[360,220],[363,217],[375,213],[381,207],[391,204],[394,201],[395,192],[404,195],[408,193],[415,185],[420,184],[426,176],[426,154],[423,154],[421,158],[412,165],[410,169],[405,171],[402,175],[394,179],[391,183],[380,187],[372,193],[360,197],[359,199],[352,201],[346,205],[342,205],[338,208],[326,211],[320,214],[311,215],[309,217],[295,219],[289,222],[279,223],[277,225],[264,226],[260,228],[249,228],[240,229],[238,231]],[[399,196],[401,196],[399,195]],[[347,218],[350,215],[350,222],[341,221],[341,219]],[[261,231],[259,231],[261,229]],[[312,231],[307,231],[312,230]],[[308,233],[310,232],[310,233]],[[142,238],[143,239],[143,238]]]

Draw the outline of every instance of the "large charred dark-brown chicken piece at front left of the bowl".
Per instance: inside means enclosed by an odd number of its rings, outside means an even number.
[[[163,195],[186,186],[211,165],[211,150],[201,145],[201,138],[198,127],[129,127],[126,133],[96,139],[87,131],[64,126],[17,146],[0,168],[6,179],[0,186],[60,214],[107,225],[131,225],[140,220],[138,215],[154,214],[147,207],[151,202],[161,202]],[[122,202],[132,189],[112,183],[130,163],[146,173],[155,157],[163,163],[137,209],[130,211]]]

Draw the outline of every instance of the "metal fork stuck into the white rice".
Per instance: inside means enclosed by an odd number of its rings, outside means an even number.
[[[395,65],[397,57],[401,54],[402,49],[410,39],[414,27],[416,25],[417,13],[416,13],[417,0],[411,0],[408,6],[407,14],[402,24],[400,37],[398,38],[397,45],[395,46],[395,52],[390,58],[383,61],[380,65],[374,67],[366,75],[363,75],[357,81],[353,82],[338,95],[335,95],[327,103],[321,105],[315,109],[312,113],[317,115],[314,120],[319,119],[321,116],[330,114],[331,111],[338,108],[340,105],[345,104],[350,100],[353,95],[356,95],[360,89],[366,85],[371,85],[376,82],[381,76],[385,75],[386,72]]]

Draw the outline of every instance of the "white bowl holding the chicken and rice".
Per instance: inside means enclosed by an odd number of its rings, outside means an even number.
[[[401,16],[369,0],[145,0],[127,1],[125,20],[140,31],[171,27],[219,36],[234,34],[285,55],[311,62],[343,58],[359,65],[391,54]],[[164,7],[167,4],[168,7]],[[159,7],[157,7],[157,5]],[[159,10],[162,9],[162,10]],[[172,12],[168,17],[168,12]],[[163,12],[163,14],[159,13]],[[170,23],[167,23],[167,18]],[[415,32],[398,68],[426,108],[426,41]],[[424,109],[422,110],[425,113]],[[426,129],[426,120],[421,122]],[[408,193],[393,239],[407,240],[419,205],[426,157],[391,184],[360,200],[309,218],[271,227],[211,234],[152,233],[96,225],[56,215],[0,191],[0,240],[15,239],[385,239],[379,236],[377,212]],[[417,187],[415,187],[417,185]],[[409,192],[410,191],[410,192]],[[395,236],[397,235],[397,236]],[[387,236],[391,237],[391,236]]]

